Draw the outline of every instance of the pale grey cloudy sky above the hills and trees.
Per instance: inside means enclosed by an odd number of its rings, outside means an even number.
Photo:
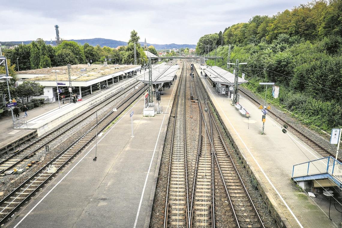
[[[254,15],[274,15],[307,0],[13,0],[1,6],[0,40],[107,38],[128,41],[135,29],[148,43],[196,44]]]

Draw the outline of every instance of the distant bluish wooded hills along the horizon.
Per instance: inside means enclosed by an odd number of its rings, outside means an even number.
[[[124,41],[119,41],[119,40],[112,40],[112,39],[104,39],[104,38],[93,38],[93,39],[82,39],[82,40],[70,40],[70,41],[76,41],[77,43],[80,43],[83,45],[84,43],[89,43],[92,46],[96,46],[97,44],[100,45],[101,47],[107,46],[110,48],[117,48],[117,46],[123,46],[127,45],[127,42]],[[9,42],[1,42],[0,43],[10,43],[12,45],[15,44],[21,44],[24,42],[24,44],[29,44],[32,42],[32,40],[27,40],[27,41],[9,41]],[[51,41],[45,41],[47,44],[50,44]],[[56,45],[56,41],[52,41],[54,45]],[[141,45],[144,45],[144,42],[140,42]],[[5,44],[3,44],[5,45]],[[175,43],[170,43],[170,44],[150,44],[147,43],[147,45],[153,45],[155,49],[157,50],[163,50],[163,49],[173,49],[173,48],[196,48],[195,44],[175,44]]]

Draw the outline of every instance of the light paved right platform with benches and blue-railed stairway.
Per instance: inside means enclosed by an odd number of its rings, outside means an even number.
[[[199,66],[195,66],[200,75]],[[216,94],[208,79],[201,78],[208,96],[223,125],[234,139],[238,153],[245,160],[246,169],[255,176],[259,190],[267,199],[269,209],[281,227],[339,227],[341,214],[323,194],[311,198],[291,180],[293,165],[321,158],[289,131],[282,133],[281,126],[266,116],[262,133],[262,112],[248,99],[240,95],[240,104],[249,112],[246,118],[232,105],[231,99]]]

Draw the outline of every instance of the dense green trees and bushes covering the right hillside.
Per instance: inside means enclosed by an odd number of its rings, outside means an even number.
[[[268,102],[298,115],[308,125],[330,131],[342,127],[342,0],[315,1],[273,17],[254,16],[248,23],[225,29],[222,43],[212,34],[198,41],[198,54],[224,56],[247,62],[246,86],[259,94],[259,82],[280,86],[279,98],[268,91]],[[213,51],[216,49],[217,50]],[[214,61],[207,64],[214,65]]]

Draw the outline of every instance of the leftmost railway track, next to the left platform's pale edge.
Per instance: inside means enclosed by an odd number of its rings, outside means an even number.
[[[117,99],[132,91],[136,86],[140,85],[141,82],[135,82],[132,85],[127,86],[123,90],[111,95],[108,97],[104,102],[95,105],[91,109],[87,110],[80,116],[77,116],[68,122],[61,125],[58,129],[55,129],[51,131],[50,133],[44,135],[43,137],[39,138],[35,142],[27,145],[25,148],[16,151],[11,156],[9,156],[6,159],[3,159],[0,161],[0,175],[3,174],[6,171],[11,170],[12,168],[19,169],[18,166],[21,166],[23,164],[27,164],[29,162],[29,158],[34,156],[36,153],[39,152],[47,152],[45,151],[45,146],[47,145],[53,145],[53,144],[59,144],[61,140],[63,140],[63,137],[70,137],[70,131],[72,131],[77,125],[81,124],[83,121],[85,121],[88,118],[93,118],[95,113],[107,105],[115,104]],[[53,148],[50,148],[53,149]]]

